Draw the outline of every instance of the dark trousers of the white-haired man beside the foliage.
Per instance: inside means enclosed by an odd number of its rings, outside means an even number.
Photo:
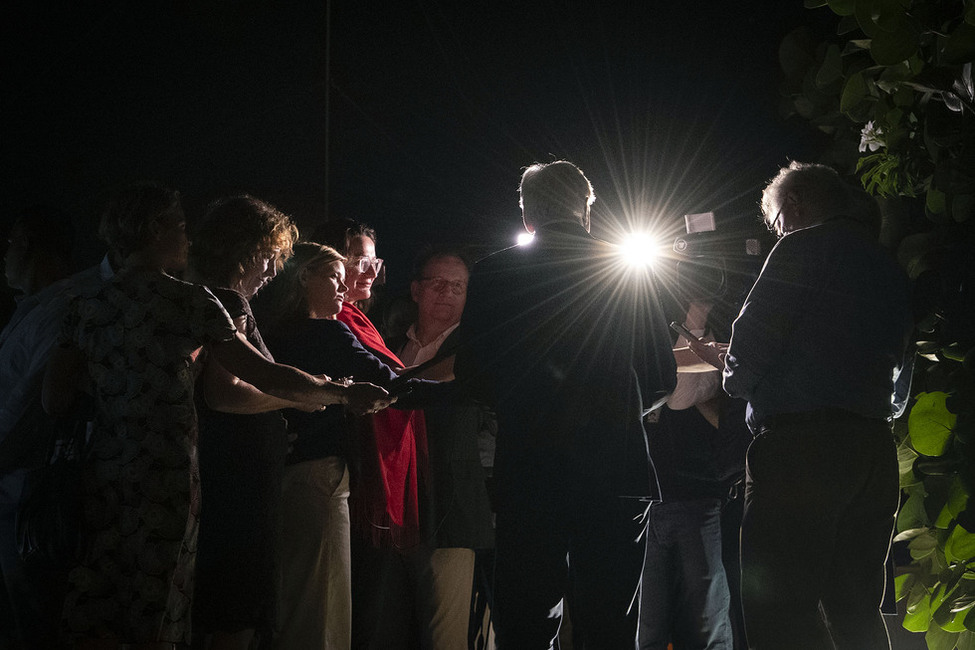
[[[887,422],[814,412],[760,432],[741,529],[749,647],[889,647],[880,602],[898,496]]]

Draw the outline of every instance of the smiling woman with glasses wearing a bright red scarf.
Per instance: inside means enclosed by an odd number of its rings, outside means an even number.
[[[373,283],[383,271],[383,261],[376,257],[376,232],[352,220],[338,220],[315,235],[346,257],[348,291],[337,319],[366,349],[390,367],[402,369],[403,362],[359,308],[368,308]],[[352,647],[408,647],[412,612],[404,565],[408,551],[420,541],[418,495],[427,462],[423,412],[386,409],[356,418],[356,425],[359,453],[349,499]]]

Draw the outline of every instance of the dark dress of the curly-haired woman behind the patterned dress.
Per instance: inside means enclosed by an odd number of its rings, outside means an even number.
[[[212,289],[247,340],[272,360],[247,300]],[[278,411],[220,413],[197,391],[203,504],[196,558],[193,628],[267,630],[274,620],[276,529],[287,425]]]

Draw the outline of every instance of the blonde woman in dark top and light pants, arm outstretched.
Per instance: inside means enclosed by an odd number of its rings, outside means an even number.
[[[348,292],[345,258],[328,246],[299,243],[268,287],[265,327],[275,358],[310,373],[389,387],[396,374],[336,317]],[[262,326],[264,322],[262,321]],[[446,397],[449,387],[422,380],[397,406]],[[349,523],[350,431],[341,408],[288,411],[293,449],[285,468],[282,593],[275,646],[348,648],[351,639]],[[356,434],[359,435],[359,434]]]

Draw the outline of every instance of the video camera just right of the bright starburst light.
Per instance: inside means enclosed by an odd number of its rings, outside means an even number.
[[[758,278],[771,248],[755,234],[718,232],[714,212],[684,215],[686,234],[674,240],[676,284],[685,301],[736,301]]]

